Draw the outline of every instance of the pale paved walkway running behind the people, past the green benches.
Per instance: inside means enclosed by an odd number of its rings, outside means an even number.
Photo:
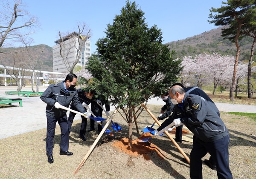
[[[47,87],[39,87],[39,91],[44,91]],[[5,91],[16,91],[17,86],[5,87],[0,86],[0,97],[22,98],[23,107],[0,108],[0,139],[23,134],[30,131],[46,128],[47,120],[45,114],[46,103],[41,101],[40,97],[22,97],[17,94],[6,95]],[[32,91],[31,88],[22,88],[22,91]],[[164,105],[162,99],[154,98],[148,101],[148,104]],[[18,103],[14,103],[17,105]],[[256,105],[233,105],[226,103],[216,103],[220,111],[235,111],[256,113]],[[114,107],[111,106],[111,111]],[[74,120],[81,119],[76,115]]]

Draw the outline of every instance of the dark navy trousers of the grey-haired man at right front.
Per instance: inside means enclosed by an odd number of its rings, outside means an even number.
[[[190,152],[190,178],[202,179],[202,158],[209,152],[216,163],[218,179],[232,179],[229,168],[228,144],[229,135],[213,142],[203,142],[194,135],[193,148]]]

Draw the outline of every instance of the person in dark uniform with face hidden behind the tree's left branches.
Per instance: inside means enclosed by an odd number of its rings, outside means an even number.
[[[97,97],[94,96],[93,101],[91,102],[91,110],[93,112],[93,114],[96,117],[102,117],[102,107],[100,107],[97,104],[97,100],[101,101],[102,106],[105,105],[105,110],[107,111],[107,113],[109,114],[110,111],[110,104],[109,101],[106,97],[102,96],[102,95],[96,95]],[[102,121],[101,121],[102,124]],[[94,120],[90,119],[90,129],[88,130],[88,132],[90,131],[94,131],[95,127],[94,127]],[[98,124],[98,134],[102,131],[102,126]]]

